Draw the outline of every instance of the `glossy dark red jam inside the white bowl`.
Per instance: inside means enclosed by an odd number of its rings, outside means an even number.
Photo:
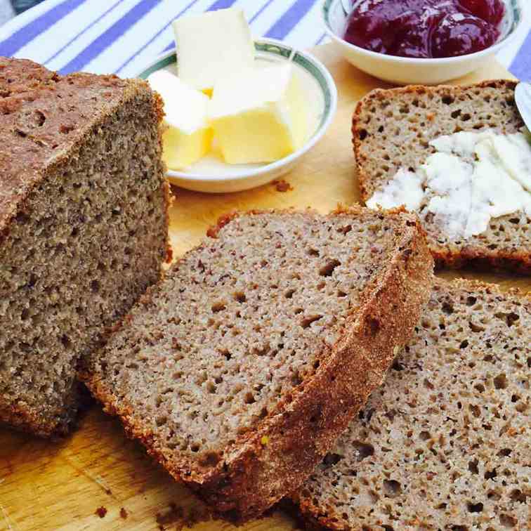
[[[414,58],[465,55],[492,46],[502,0],[353,1],[345,40],[367,50]]]

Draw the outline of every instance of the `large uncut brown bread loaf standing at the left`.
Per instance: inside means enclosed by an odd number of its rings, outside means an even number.
[[[143,81],[0,58],[0,421],[67,431],[77,360],[159,280],[161,119]]]

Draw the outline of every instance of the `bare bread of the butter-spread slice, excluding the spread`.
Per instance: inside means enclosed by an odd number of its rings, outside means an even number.
[[[516,81],[470,86],[408,86],[375,90],[360,100],[353,143],[361,197],[367,201],[400,168],[417,169],[435,150],[428,143],[457,131],[516,133],[523,126],[514,101]],[[531,219],[519,211],[493,218],[486,232],[451,241],[423,218],[428,245],[440,265],[466,263],[531,271]]]

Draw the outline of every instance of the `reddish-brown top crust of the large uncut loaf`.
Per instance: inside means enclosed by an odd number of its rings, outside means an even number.
[[[72,89],[82,89],[76,105],[61,105],[60,98]],[[11,219],[23,211],[27,197],[46,173],[75,155],[84,138],[94,134],[119,105],[142,91],[152,93],[153,112],[162,122],[164,103],[146,81],[83,72],[60,76],[32,60],[0,56],[0,244]],[[18,112],[22,107],[32,117],[27,123]],[[35,127],[34,119],[42,121],[40,126]],[[169,198],[167,182],[164,194]],[[171,260],[169,242],[166,247]]]

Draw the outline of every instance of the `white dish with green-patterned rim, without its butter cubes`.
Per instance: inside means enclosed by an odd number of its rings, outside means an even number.
[[[197,192],[240,192],[249,190],[283,176],[293,169],[301,157],[310,150],[327,131],[337,107],[337,89],[334,79],[325,65],[310,53],[294,50],[291,46],[276,39],[257,39],[256,60],[261,62],[281,62],[291,60],[296,68],[301,86],[306,91],[308,110],[311,111],[310,131],[305,145],[288,157],[270,164],[225,164],[214,156],[207,156],[186,171],[169,170],[168,180],[182,188]],[[147,78],[160,69],[173,70],[176,67],[176,51],[159,55],[138,77]]]

